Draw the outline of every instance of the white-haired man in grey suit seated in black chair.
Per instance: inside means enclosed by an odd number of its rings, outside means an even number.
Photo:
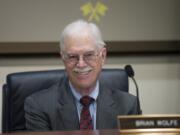
[[[60,48],[68,77],[26,99],[27,130],[113,129],[117,115],[137,114],[134,96],[98,80],[107,50],[95,24],[67,25]]]

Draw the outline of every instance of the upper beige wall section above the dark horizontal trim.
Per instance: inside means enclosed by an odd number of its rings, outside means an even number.
[[[84,18],[87,1],[0,0],[0,41],[58,41],[67,23]],[[101,1],[108,11],[98,25],[107,41],[180,39],[179,0]]]

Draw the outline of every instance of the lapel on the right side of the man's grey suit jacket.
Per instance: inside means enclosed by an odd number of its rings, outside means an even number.
[[[112,91],[100,84],[97,99],[97,129],[116,128],[117,106],[112,98]]]

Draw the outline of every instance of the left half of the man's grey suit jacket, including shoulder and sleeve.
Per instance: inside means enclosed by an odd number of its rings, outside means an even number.
[[[74,100],[67,80],[27,97],[24,105],[27,129],[78,129],[79,120]]]

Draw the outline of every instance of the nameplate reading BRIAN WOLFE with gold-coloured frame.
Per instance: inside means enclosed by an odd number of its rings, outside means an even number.
[[[180,115],[118,116],[120,131],[180,131]]]

